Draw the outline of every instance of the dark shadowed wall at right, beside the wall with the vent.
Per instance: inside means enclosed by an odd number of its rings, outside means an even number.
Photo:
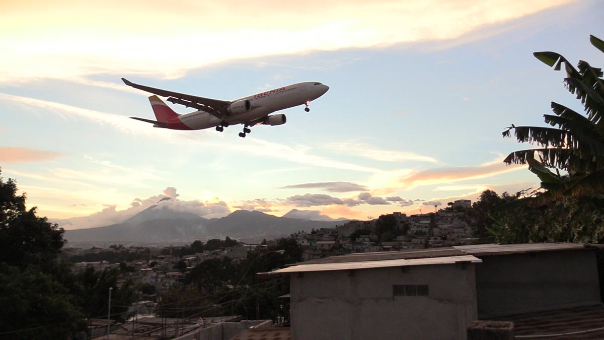
[[[538,312],[600,302],[591,251],[482,256],[476,267],[478,317]]]

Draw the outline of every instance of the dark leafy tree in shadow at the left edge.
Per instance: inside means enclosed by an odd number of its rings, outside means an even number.
[[[0,328],[7,339],[66,339],[85,329],[60,261],[63,229],[25,209],[25,194],[0,172]],[[35,330],[31,330],[35,329]]]

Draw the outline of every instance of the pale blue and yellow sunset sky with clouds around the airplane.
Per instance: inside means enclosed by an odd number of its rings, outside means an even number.
[[[501,132],[581,111],[556,51],[604,66],[597,0],[19,1],[0,3],[0,167],[66,229],[163,197],[222,217],[291,209],[367,219],[480,192],[538,188]],[[120,77],[232,100],[289,83],[330,90],[288,122],[172,131]],[[174,105],[178,113],[190,109]]]

